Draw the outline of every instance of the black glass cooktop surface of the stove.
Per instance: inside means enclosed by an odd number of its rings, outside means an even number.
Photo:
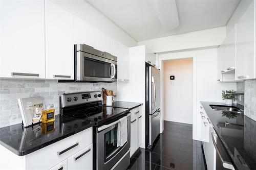
[[[89,120],[94,122],[96,126],[99,126],[113,120],[114,118],[127,114],[128,112],[129,109],[98,106],[93,109],[76,111],[66,116]]]

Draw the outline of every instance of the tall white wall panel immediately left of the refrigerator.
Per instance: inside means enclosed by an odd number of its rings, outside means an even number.
[[[143,103],[142,148],[145,148],[145,52],[145,45],[130,48],[130,80],[117,82],[118,101]]]

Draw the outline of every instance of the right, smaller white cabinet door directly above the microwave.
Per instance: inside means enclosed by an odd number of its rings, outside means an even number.
[[[113,54],[114,39],[99,31],[98,32],[98,50]]]

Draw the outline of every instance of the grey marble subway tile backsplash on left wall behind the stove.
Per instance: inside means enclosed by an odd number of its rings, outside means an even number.
[[[116,94],[116,83],[58,83],[57,80],[0,79],[0,128],[22,122],[18,98],[41,96],[44,104],[54,104],[58,114],[60,94],[101,91],[102,87],[113,90]]]

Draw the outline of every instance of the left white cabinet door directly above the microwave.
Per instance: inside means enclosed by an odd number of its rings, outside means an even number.
[[[74,44],[87,44],[98,48],[97,29],[75,16],[74,21]]]

